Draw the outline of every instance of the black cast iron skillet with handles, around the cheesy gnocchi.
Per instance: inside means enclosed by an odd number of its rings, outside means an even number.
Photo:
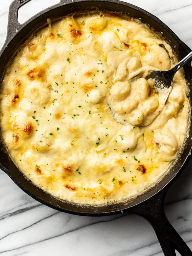
[[[39,12],[24,24],[19,24],[17,22],[18,10],[21,5],[29,1],[30,0],[14,0],[10,5],[8,34],[5,44],[0,51],[0,81],[3,77],[4,69],[14,52],[32,32],[42,26],[42,24],[46,23],[47,18],[54,19],[71,12],[95,10],[94,7],[98,7],[99,10],[122,12],[123,14],[132,16],[134,18],[141,18],[142,22],[150,24],[155,31],[163,32],[164,38],[175,50],[179,59],[182,59],[191,51],[189,47],[181,42],[180,39],[172,32],[172,30],[168,28],[162,21],[132,4],[117,0],[71,0],[72,2],[70,0],[60,0],[59,4]],[[184,71],[188,82],[192,84],[191,63],[185,65]],[[192,92],[190,92],[190,98],[192,98],[191,93]],[[107,206],[79,206],[70,204],[68,202],[62,202],[46,194],[43,190],[37,188],[30,181],[24,178],[23,174],[17,169],[9,158],[1,142],[0,168],[7,173],[10,178],[28,195],[56,210],[84,216],[101,216],[128,212],[138,214],[148,220],[155,229],[164,255],[176,256],[175,250],[177,250],[182,256],[189,256],[192,255],[192,252],[165,216],[164,198],[168,188],[182,172],[189,160],[192,148],[191,137],[192,128],[190,127],[189,136],[182,153],[174,161],[174,166],[172,166],[169,173],[153,188],[136,197],[132,201],[124,201]]]

